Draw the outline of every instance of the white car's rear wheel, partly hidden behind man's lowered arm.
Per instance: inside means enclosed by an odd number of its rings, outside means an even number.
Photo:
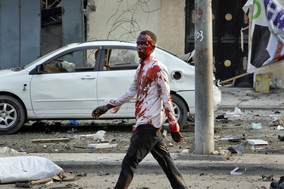
[[[171,94],[171,99],[172,99],[172,105],[174,107],[175,114],[178,115],[177,116],[178,124],[180,126],[180,129],[182,129],[183,124],[185,123],[186,117],[187,117],[187,108],[186,108],[185,102],[182,99],[180,99],[178,95],[175,95],[175,94]],[[167,122],[167,118],[162,124],[161,132],[163,132],[164,130],[167,130],[168,132],[170,132],[169,123]]]

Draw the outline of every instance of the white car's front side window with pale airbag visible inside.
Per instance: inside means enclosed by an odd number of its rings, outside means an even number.
[[[60,56],[44,66],[44,73],[92,71],[98,49],[78,50]]]

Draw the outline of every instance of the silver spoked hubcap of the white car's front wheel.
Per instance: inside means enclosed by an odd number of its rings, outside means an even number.
[[[7,128],[14,124],[17,118],[16,109],[7,103],[0,104],[0,128]]]

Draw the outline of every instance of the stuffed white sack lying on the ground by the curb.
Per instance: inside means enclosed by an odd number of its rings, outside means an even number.
[[[63,169],[49,159],[35,156],[0,158],[0,183],[41,180],[59,175]]]

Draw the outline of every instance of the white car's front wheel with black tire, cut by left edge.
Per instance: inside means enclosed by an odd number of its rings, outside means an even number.
[[[9,95],[0,95],[0,134],[17,132],[25,123],[26,112],[22,103]]]

